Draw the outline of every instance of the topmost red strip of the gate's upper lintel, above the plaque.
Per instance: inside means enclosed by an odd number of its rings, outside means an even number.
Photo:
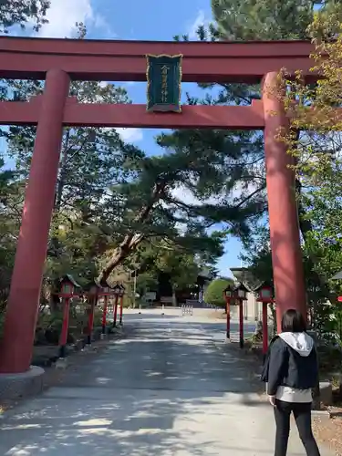
[[[182,54],[184,57],[307,57],[314,50],[310,41],[135,41],[0,36],[0,52],[74,54],[136,57],[146,54]]]

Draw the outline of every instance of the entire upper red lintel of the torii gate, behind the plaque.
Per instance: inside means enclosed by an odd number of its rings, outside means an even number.
[[[174,43],[0,37],[0,78],[41,78],[58,67],[80,80],[145,81],[146,54],[183,54],[184,82],[259,82],[313,66],[309,42]]]

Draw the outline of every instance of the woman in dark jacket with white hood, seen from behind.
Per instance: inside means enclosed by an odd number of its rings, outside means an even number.
[[[319,456],[311,429],[312,389],[318,383],[316,348],[296,310],[289,309],[283,316],[282,332],[270,344],[262,379],[275,408],[275,456],[286,455],[291,412],[306,454]]]

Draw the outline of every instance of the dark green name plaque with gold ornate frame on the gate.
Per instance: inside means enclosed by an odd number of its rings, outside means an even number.
[[[147,110],[181,112],[182,55],[147,58]]]

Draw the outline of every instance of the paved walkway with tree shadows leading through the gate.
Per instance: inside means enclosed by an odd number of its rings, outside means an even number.
[[[128,337],[0,420],[0,455],[272,456],[273,411],[216,326],[129,316]]]

